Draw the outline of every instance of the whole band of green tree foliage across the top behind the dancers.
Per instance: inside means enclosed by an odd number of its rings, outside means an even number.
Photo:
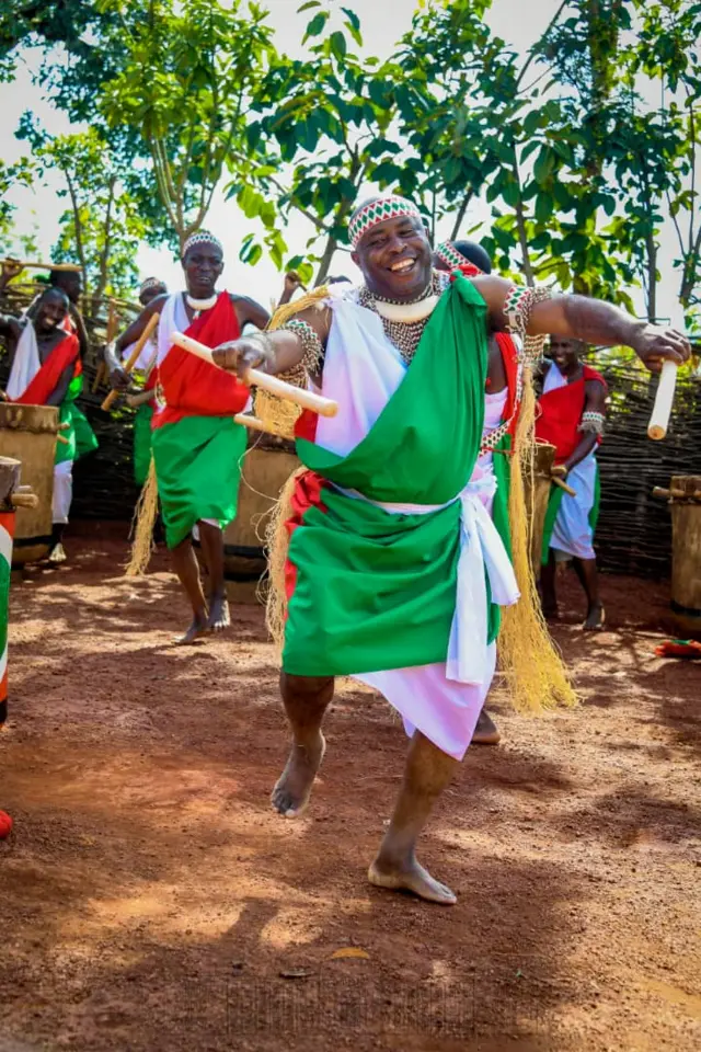
[[[182,243],[223,178],[256,228],[241,259],[313,262],[321,281],[360,196],[397,190],[432,229],[450,216],[453,236],[480,199],[492,208],[482,239],[502,271],[623,302],[621,289],[637,284],[654,317],[659,235],[671,222],[679,299],[699,309],[699,0],[553,4],[526,55],[490,28],[491,0],[423,0],[383,61],[365,55],[346,3],[301,3],[303,57],[290,58],[255,2],[8,0],[0,76],[18,46],[44,47],[42,85],[107,147],[96,215],[114,175],[131,238]],[[290,260],[292,211],[312,235]],[[65,226],[97,244],[93,210],[72,214]]]

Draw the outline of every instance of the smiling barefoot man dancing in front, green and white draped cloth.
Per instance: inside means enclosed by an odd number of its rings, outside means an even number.
[[[264,342],[215,351],[240,375],[303,365],[340,405],[334,418],[307,414],[298,425],[307,470],[285,524],[281,673],[292,747],[272,799],[288,817],[307,807],[334,677],[374,686],[401,712],[411,744],[369,880],[450,904],[455,894],[416,860],[416,841],[470,743],[494,671],[498,608],[518,597],[485,510],[494,481],[478,470],[485,390],[505,382],[487,335],[578,333],[632,346],[651,368],[686,361],[689,346],[608,304],[492,275],[441,278],[422,216],[401,197],[361,205],[349,232],[360,289],[333,286],[322,309],[300,310]]]

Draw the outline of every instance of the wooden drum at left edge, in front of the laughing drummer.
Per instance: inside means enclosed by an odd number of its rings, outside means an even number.
[[[0,402],[0,456],[22,461],[22,484],[38,496],[36,508],[18,508],[13,565],[36,562],[49,552],[57,430],[55,405]]]

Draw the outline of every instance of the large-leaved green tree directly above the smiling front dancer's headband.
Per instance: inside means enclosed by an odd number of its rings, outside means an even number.
[[[248,149],[262,149],[264,157],[240,169],[228,194],[246,217],[260,218],[276,233],[291,210],[304,216],[313,228],[306,258],[318,264],[321,283],[334,253],[347,247],[348,216],[364,186],[414,192],[421,162],[402,150],[397,122],[426,105],[427,96],[424,84],[407,81],[397,61],[358,57],[361,28],[350,8],[332,13],[311,0],[299,11],[314,12],[302,39],[309,58],[283,55],[272,61],[253,100],[260,117],[248,138]],[[281,266],[285,242],[280,236],[267,240]],[[243,258],[255,262],[262,251],[250,237]],[[301,262],[296,256],[288,265]]]

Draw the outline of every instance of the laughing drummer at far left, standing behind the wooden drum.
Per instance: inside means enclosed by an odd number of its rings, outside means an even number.
[[[90,424],[76,405],[82,385],[78,335],[66,328],[69,299],[60,288],[47,288],[34,304],[33,318],[0,316],[0,335],[11,354],[8,401],[23,405],[56,405],[64,442],[56,444],[51,562],[64,562],[62,535],[68,523],[72,466],[97,445]],[[79,425],[79,426],[77,426]]]

